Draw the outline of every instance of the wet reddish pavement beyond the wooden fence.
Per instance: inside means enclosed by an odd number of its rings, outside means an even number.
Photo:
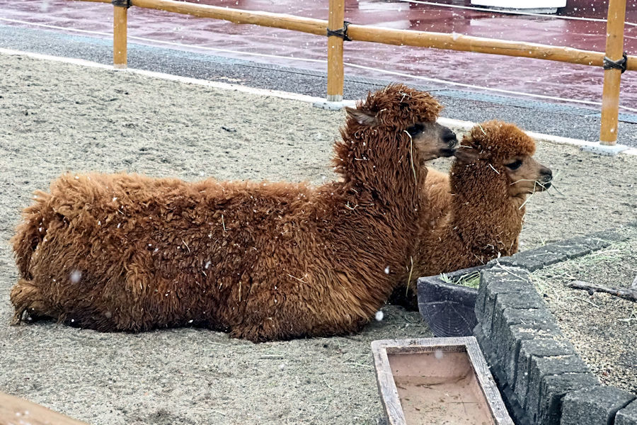
[[[328,16],[327,0],[191,1],[321,19],[326,19]],[[445,2],[469,5],[468,0]],[[0,0],[0,10],[1,18],[98,33],[112,32],[112,6],[108,4],[68,0],[22,0],[20,2]],[[561,11],[561,14],[565,16],[587,18],[605,18],[606,13],[607,1],[597,0],[568,0],[568,8]],[[459,33],[597,51],[604,50],[606,35],[604,22],[512,16],[372,0],[347,0],[345,19],[353,23],[387,28]],[[637,0],[628,0],[626,21],[637,23]],[[8,22],[0,21],[0,23]],[[108,38],[109,35],[106,34],[93,35]],[[305,69],[326,69],[324,63],[294,60],[294,58],[325,60],[326,38],[316,35],[258,26],[240,26],[224,21],[140,8],[131,8],[129,12],[129,35],[132,36],[130,41],[149,45],[161,45],[159,42],[168,42],[173,43],[171,47],[180,44],[179,48],[183,50],[202,51],[202,48],[208,48],[213,49],[209,52],[214,55]],[[637,26],[626,26],[624,50],[632,55],[637,54]],[[245,55],[246,52],[287,58],[249,56]],[[403,72],[462,84],[544,96],[600,101],[602,92],[602,69],[544,60],[349,42],[345,45],[345,61],[390,72]],[[345,72],[382,79],[401,78],[352,67],[348,67]],[[621,104],[637,108],[637,72],[624,74]]]

